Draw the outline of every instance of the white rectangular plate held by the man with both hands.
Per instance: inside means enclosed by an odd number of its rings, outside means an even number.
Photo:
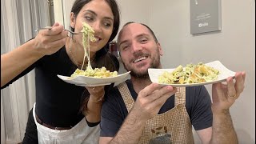
[[[225,66],[222,65],[219,61],[209,62],[206,63],[206,66],[211,66],[214,69],[219,70],[220,74],[218,75],[218,79],[212,82],[201,82],[201,83],[190,83],[190,84],[163,84],[162,85],[170,85],[174,87],[185,87],[185,86],[199,86],[199,85],[207,85],[207,84],[213,84],[217,82],[224,82],[226,81],[226,78],[228,77],[234,77],[235,72],[228,70]],[[175,69],[149,69],[148,72],[150,74],[150,80],[151,82],[158,83],[158,77],[162,75],[164,71],[173,71]]]

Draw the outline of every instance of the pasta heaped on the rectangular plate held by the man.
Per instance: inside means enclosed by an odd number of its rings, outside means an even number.
[[[210,82],[216,80],[218,74],[218,70],[200,62],[198,65],[188,64],[185,67],[178,66],[172,72],[165,71],[158,77],[158,82],[164,84]]]

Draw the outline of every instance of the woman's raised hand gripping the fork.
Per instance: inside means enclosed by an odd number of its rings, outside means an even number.
[[[40,30],[37,36],[31,40],[34,42],[34,48],[40,54],[50,55],[57,52],[66,43],[68,32],[64,30],[64,26],[58,22],[54,23],[50,30]]]

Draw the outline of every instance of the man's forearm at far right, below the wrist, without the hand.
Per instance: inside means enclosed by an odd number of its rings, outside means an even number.
[[[213,114],[213,134],[211,143],[238,143],[237,134],[234,130],[229,110]]]

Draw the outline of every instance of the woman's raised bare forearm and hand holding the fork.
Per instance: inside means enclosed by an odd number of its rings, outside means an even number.
[[[54,54],[66,42],[67,32],[55,23],[53,29],[42,30],[36,38],[1,55],[1,87],[46,54]]]

